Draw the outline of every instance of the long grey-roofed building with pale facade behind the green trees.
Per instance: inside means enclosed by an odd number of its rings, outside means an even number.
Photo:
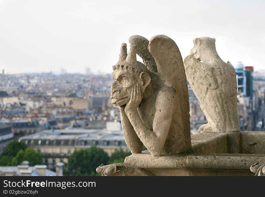
[[[117,128],[117,125],[111,124]],[[115,130],[114,128],[114,130]],[[43,156],[43,163],[48,169],[55,169],[58,162],[68,163],[68,157],[75,150],[97,146],[102,148],[108,155],[114,153],[117,148],[128,151],[121,130],[45,130],[33,135],[23,136],[20,141],[34,148]]]

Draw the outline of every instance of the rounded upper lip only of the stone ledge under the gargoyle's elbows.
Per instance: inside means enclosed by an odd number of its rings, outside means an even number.
[[[261,154],[190,154],[153,157],[132,154],[124,163],[141,169],[247,170],[253,163],[265,163]]]

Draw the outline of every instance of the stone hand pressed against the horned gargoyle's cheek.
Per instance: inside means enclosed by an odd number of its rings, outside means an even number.
[[[130,101],[125,106],[125,112],[128,112],[132,109],[137,109],[141,101],[142,101],[142,92],[139,84],[137,83],[136,85],[133,86]]]

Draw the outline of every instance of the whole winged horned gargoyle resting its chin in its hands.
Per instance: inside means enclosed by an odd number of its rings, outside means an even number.
[[[128,55],[126,44],[121,46],[111,84],[126,144],[132,154],[141,153],[142,145],[153,156],[191,153],[189,95],[178,46],[164,35],[150,42],[136,35],[129,42]]]

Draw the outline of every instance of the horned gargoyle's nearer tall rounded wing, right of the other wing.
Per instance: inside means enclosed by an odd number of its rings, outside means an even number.
[[[156,62],[159,77],[176,89],[181,107],[185,139],[190,142],[189,93],[179,48],[171,38],[165,35],[156,35],[151,38],[148,49]]]

